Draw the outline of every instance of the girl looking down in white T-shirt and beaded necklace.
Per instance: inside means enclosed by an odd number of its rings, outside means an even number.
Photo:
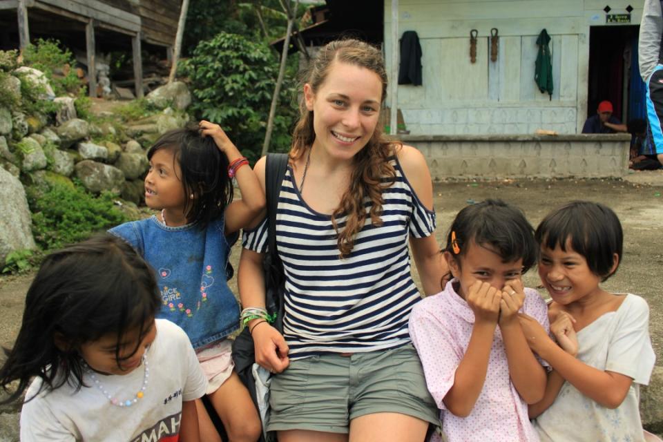
[[[21,441],[198,441],[206,379],[159,305],[152,269],[118,238],[47,256],[0,367],[3,390],[18,381],[4,403],[28,391]]]

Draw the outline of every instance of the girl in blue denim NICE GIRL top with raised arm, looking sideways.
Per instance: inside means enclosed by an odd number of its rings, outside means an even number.
[[[159,212],[111,233],[133,245],[157,271],[158,315],[184,329],[208,378],[207,394],[230,441],[256,441],[260,419],[233,372],[229,334],[239,327],[238,302],[227,285],[228,257],[237,232],[265,206],[258,178],[218,124],[179,129],[147,153],[145,202]],[[242,200],[233,201],[235,177]],[[196,402],[201,439],[220,441],[202,401]]]

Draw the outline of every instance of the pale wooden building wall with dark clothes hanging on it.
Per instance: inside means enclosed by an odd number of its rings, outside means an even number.
[[[595,112],[591,105],[602,99],[598,94],[591,97],[591,91],[600,89],[596,83],[611,75],[606,72],[609,66],[602,66],[604,61],[597,60],[592,62],[595,75],[590,77],[590,39],[594,41],[594,52],[608,44],[601,41],[606,35],[612,36],[606,42],[615,38],[632,40],[634,35],[637,39],[643,3],[644,0],[398,0],[398,35],[416,31],[423,52],[423,85],[398,86],[398,108],[407,130],[412,135],[427,136],[532,134],[539,128],[559,134],[579,133],[586,117]],[[392,4],[392,0],[385,0],[388,68],[394,43]],[[495,62],[490,61],[492,28],[499,35]],[[539,92],[534,80],[535,42],[544,28],[552,37],[552,97]],[[473,29],[478,32],[474,64],[470,62]],[[621,76],[610,79],[611,86],[608,85],[613,96],[623,97],[621,110],[615,108],[615,114],[622,119],[628,116],[629,66],[630,61],[624,61]],[[617,90],[620,79],[622,88]]]

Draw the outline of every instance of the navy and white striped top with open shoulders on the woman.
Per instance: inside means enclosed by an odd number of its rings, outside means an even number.
[[[383,224],[375,227],[367,218],[343,260],[331,217],[302,200],[288,168],[278,200],[276,244],[286,276],[283,334],[291,359],[410,342],[407,320],[421,297],[407,244],[410,235],[433,233],[435,213],[416,198],[396,158],[392,164],[396,177],[383,191]],[[345,217],[338,224],[344,227]],[[267,219],[244,232],[244,247],[267,251]]]

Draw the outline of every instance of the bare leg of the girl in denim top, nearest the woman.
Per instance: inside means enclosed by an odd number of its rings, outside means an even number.
[[[258,440],[262,432],[258,410],[251,401],[249,390],[244,387],[236,372],[233,371],[221,387],[209,395],[209,398],[226,428],[230,442]],[[202,438],[202,432],[200,434]]]

